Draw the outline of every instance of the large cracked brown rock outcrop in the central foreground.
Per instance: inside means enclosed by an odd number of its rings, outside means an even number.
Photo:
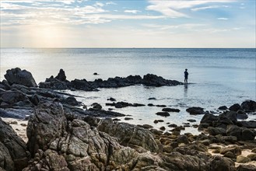
[[[75,117],[61,103],[40,103],[27,127],[33,156],[29,170],[234,170],[234,162],[205,154],[203,145],[188,145],[181,135],[163,152],[160,141],[142,127],[109,118]],[[170,142],[169,142],[170,143]],[[216,165],[218,164],[218,165]]]

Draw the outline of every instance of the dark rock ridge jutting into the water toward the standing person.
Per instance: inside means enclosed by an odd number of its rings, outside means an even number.
[[[140,75],[129,75],[126,78],[115,77],[107,80],[96,79],[94,82],[88,82],[86,79],[74,79],[69,82],[66,80],[65,72],[61,69],[55,78],[51,76],[49,79],[46,79],[45,82],[40,82],[39,87],[47,89],[97,91],[98,88],[118,88],[140,84],[145,86],[177,86],[182,85],[183,83],[175,80],[163,79],[163,77],[153,74],[144,75],[143,79]]]

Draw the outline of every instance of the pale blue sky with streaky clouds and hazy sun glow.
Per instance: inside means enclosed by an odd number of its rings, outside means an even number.
[[[255,0],[0,0],[1,47],[253,47]]]

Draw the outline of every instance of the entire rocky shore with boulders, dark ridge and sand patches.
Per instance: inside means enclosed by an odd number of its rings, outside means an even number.
[[[256,121],[240,120],[256,112],[253,100],[221,106],[223,112],[215,114],[188,108],[190,114],[204,115],[198,125],[202,134],[182,134],[184,127],[177,125],[160,131],[118,122],[114,118],[124,114],[102,110],[97,103],[86,109],[75,96],[55,91],[181,82],[145,75],[100,83],[83,79],[78,86],[61,70],[37,87],[32,74],[19,68],[8,70],[5,79],[0,82],[0,116],[26,120],[27,142],[10,126],[17,123],[0,119],[0,170],[256,170]],[[169,112],[179,111],[165,107],[162,114]]]

